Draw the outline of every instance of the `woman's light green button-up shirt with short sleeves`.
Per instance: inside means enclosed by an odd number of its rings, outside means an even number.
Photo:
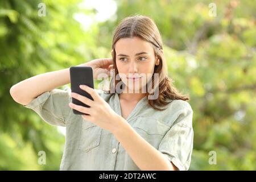
[[[121,115],[117,93],[96,89]],[[70,89],[44,92],[28,105],[47,123],[66,127],[60,170],[140,170],[110,131],[73,114]],[[193,149],[193,111],[188,102],[173,100],[166,110],[154,110],[144,97],[126,121],[141,137],[162,152],[180,170],[188,170]],[[134,146],[136,147],[136,146]]]

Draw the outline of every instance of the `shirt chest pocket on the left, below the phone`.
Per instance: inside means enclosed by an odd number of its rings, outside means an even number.
[[[102,128],[92,122],[82,120],[79,149],[89,152],[100,145]]]

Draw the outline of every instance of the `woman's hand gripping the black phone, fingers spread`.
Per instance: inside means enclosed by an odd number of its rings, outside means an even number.
[[[69,103],[69,106],[72,109],[80,111],[81,113],[89,114],[82,114],[82,118],[113,133],[113,131],[117,129],[118,122],[121,121],[121,119],[119,119],[120,116],[115,113],[115,111],[109,106],[109,104],[98,95],[96,90],[86,85],[80,85],[80,88],[82,90],[85,90],[85,92],[88,92],[90,96],[92,96],[93,101],[87,97],[81,96],[80,94],[73,92],[71,93],[71,97],[81,101],[82,103],[90,107],[79,106],[73,104],[72,102]]]

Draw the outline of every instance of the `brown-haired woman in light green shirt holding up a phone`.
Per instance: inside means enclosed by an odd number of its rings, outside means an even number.
[[[193,111],[168,78],[162,40],[150,18],[123,19],[114,32],[112,59],[78,66],[92,67],[95,78],[114,68],[114,78],[120,78],[112,79],[114,93],[81,85],[92,101],[56,89],[70,82],[69,68],[28,78],[10,90],[44,121],[66,126],[60,170],[188,170]],[[90,107],[72,104],[71,97]]]

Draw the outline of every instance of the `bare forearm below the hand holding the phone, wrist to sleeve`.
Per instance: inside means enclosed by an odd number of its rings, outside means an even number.
[[[161,152],[144,140],[124,118],[119,117],[119,119],[120,125],[113,134],[141,170],[177,169]]]

